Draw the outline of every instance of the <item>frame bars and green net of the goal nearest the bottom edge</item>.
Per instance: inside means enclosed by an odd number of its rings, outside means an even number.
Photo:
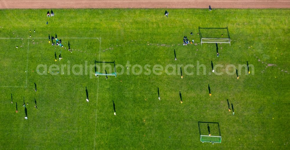
[[[207,124],[217,124],[218,126],[218,135],[202,135],[200,131],[200,123],[207,123]],[[211,142],[211,143],[221,143],[222,142],[222,136],[220,134],[220,125],[216,122],[198,122],[198,129],[200,132],[200,142]]]

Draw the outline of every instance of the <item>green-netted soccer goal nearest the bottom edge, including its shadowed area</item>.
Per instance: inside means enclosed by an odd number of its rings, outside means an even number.
[[[221,143],[220,125],[215,122],[198,122],[200,142]]]

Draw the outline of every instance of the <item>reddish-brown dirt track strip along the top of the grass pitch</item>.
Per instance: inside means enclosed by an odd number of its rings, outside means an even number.
[[[290,0],[0,0],[12,8],[290,8]]]

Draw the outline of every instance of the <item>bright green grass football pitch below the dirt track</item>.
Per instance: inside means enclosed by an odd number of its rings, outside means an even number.
[[[47,10],[0,10],[0,149],[289,147],[289,9],[169,9],[168,18],[163,9],[53,11],[47,18]],[[214,43],[200,45],[198,26],[227,26],[231,46],[218,44],[216,57]],[[51,46],[48,34],[64,47]],[[183,36],[197,45],[183,46]],[[95,60],[115,60],[117,78],[95,77]],[[211,72],[211,61],[222,75]],[[247,61],[250,75],[239,69]],[[200,142],[199,121],[219,123],[220,144]]]

